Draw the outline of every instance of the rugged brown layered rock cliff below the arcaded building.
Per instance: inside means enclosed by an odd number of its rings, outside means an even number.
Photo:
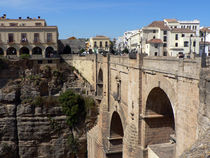
[[[85,92],[90,86],[65,64],[27,62],[0,70],[0,158],[70,158],[70,130],[56,97],[66,88]],[[39,97],[46,101],[41,104]]]

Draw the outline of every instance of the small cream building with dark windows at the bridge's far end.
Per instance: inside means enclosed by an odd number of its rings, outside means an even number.
[[[89,40],[89,51],[100,53],[102,51],[109,52],[110,39],[106,36],[91,37]]]

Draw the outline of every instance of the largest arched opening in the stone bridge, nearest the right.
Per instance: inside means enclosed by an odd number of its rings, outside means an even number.
[[[167,94],[153,88],[146,101],[145,145],[168,143],[175,136],[174,112]]]

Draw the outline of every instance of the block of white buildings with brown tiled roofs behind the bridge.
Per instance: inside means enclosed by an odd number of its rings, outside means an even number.
[[[194,23],[193,23],[194,22]],[[187,25],[188,24],[188,25]],[[153,21],[130,36],[128,48],[152,56],[189,56],[199,54],[200,22],[176,19]]]

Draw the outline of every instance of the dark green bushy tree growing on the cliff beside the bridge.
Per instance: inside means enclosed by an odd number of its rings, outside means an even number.
[[[82,96],[74,93],[72,90],[62,93],[58,100],[62,106],[63,112],[66,114],[67,124],[71,131],[68,138],[70,150],[71,153],[76,156],[79,150],[79,139],[75,137],[73,130],[85,120],[85,100]]]

